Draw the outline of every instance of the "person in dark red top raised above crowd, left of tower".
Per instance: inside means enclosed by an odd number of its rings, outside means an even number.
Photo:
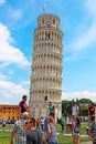
[[[28,112],[26,95],[22,96],[22,101],[19,103],[20,113]]]

